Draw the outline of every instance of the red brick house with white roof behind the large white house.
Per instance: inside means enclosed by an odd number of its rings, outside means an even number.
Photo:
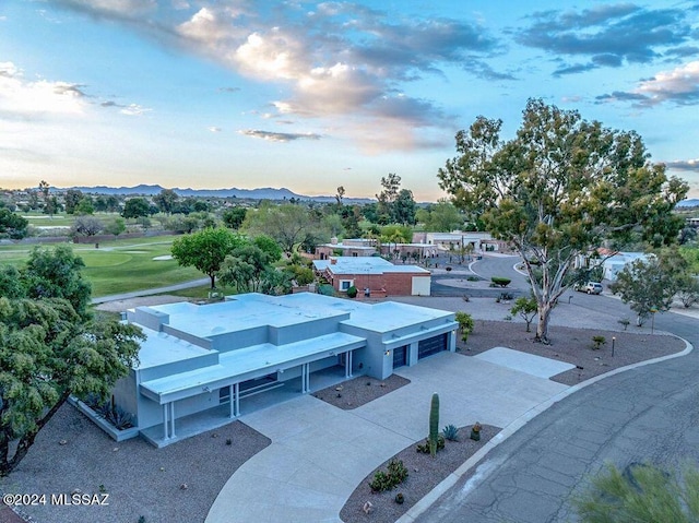
[[[339,293],[355,286],[362,295],[430,295],[430,272],[417,265],[394,265],[379,257],[331,257],[315,260],[313,268]]]

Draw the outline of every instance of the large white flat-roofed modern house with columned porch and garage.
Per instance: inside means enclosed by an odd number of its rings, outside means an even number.
[[[253,394],[284,385],[308,393],[316,375],[386,379],[454,350],[458,328],[453,312],[310,293],[138,307],[127,321],[147,337],[112,404],[133,416],[130,436],[157,447],[229,423]]]

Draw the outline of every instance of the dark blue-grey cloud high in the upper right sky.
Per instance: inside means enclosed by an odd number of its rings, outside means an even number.
[[[649,63],[664,56],[687,52],[691,25],[682,9],[643,9],[631,3],[597,5],[582,11],[546,11],[516,34],[520,44],[554,56],[588,57],[589,62],[566,64],[555,75],[625,63]],[[684,51],[683,51],[684,49]]]

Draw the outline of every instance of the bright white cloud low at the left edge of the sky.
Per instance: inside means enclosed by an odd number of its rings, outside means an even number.
[[[0,62],[0,112],[20,118],[81,115],[86,108],[84,85],[47,80],[27,81],[13,62]]]

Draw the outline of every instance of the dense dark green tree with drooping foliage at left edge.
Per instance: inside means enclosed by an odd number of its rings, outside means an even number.
[[[71,394],[104,397],[137,361],[141,331],[92,314],[82,266],[59,247],[0,272],[0,475]]]

